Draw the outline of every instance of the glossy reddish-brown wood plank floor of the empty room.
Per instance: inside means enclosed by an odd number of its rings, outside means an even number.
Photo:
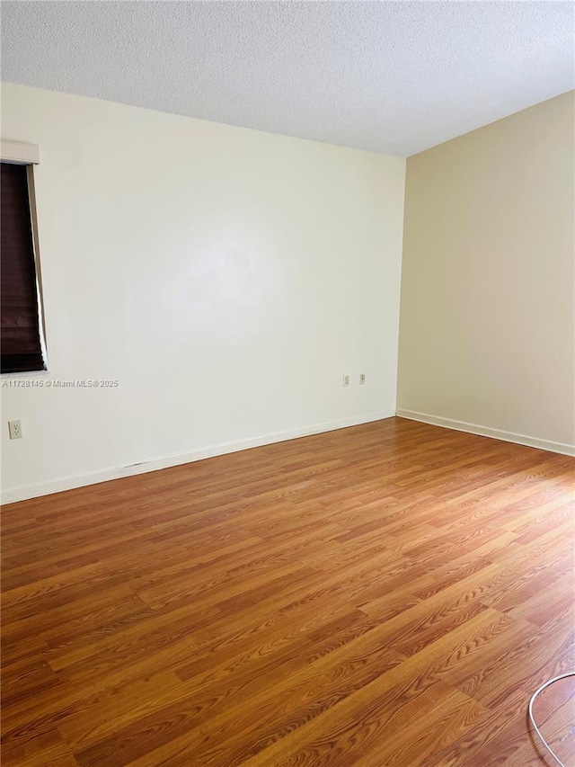
[[[544,764],[574,490],[390,418],[6,506],[2,763]],[[535,704],[568,767],[574,691]]]

